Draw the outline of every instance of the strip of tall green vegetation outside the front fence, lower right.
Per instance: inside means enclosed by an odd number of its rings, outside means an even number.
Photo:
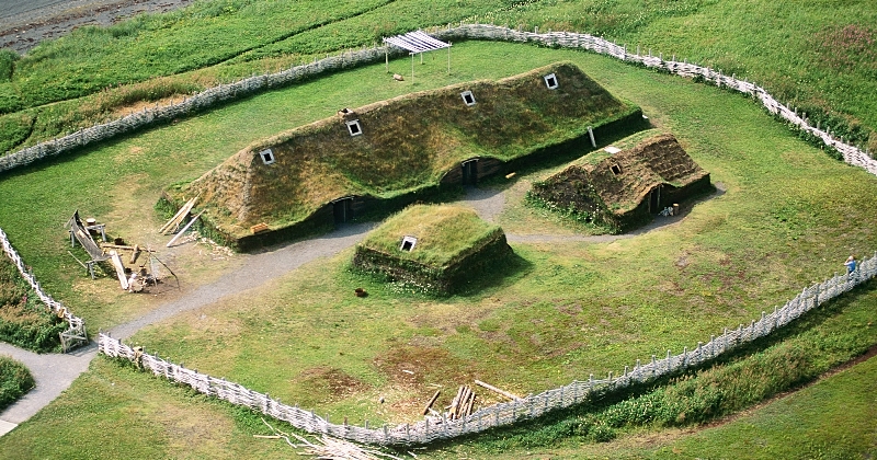
[[[747,346],[716,365],[687,371],[669,382],[592,401],[567,414],[503,429],[485,436],[478,447],[457,450],[469,455],[489,452],[492,457],[510,449],[558,442],[605,442],[622,435],[636,435],[642,428],[698,425],[737,413],[810,382],[874,346],[877,329],[869,325],[874,313],[866,307],[870,301],[866,299],[875,298],[874,291],[857,289],[852,297],[858,299],[832,302],[776,336]],[[839,409],[827,407],[829,412]],[[877,427],[864,429],[874,432]],[[870,436],[877,436],[877,432]]]

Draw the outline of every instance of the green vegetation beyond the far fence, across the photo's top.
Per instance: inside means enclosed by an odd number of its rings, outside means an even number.
[[[105,30],[83,27],[41,44],[20,60],[7,51],[10,57],[0,57],[0,107],[5,107],[0,113],[26,111],[45,128],[22,143],[0,147],[31,146],[139,108],[115,93],[143,93],[140,82],[148,79],[167,76],[158,79],[161,84],[179,89],[160,96],[146,90],[150,97],[143,101],[180,96],[339,49],[371,46],[383,36],[467,19],[586,32],[627,44],[631,51],[639,44],[642,53],[684,56],[758,81],[812,123],[877,151],[877,119],[868,97],[877,92],[877,12],[867,0],[815,2],[794,11],[763,0],[747,8],[715,0],[311,3],[205,1]],[[2,64],[10,60],[14,64]],[[2,79],[3,69],[14,69],[10,81]],[[42,105],[70,97],[60,106]],[[8,124],[2,119],[0,126]]]

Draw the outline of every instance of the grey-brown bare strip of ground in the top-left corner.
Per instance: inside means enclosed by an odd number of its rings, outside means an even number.
[[[111,25],[125,18],[163,13],[194,0],[0,0],[0,48],[27,53],[37,43],[83,25]]]

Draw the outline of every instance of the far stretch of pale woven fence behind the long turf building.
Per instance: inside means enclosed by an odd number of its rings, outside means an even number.
[[[869,152],[862,151],[862,149],[857,147],[845,143],[843,138],[834,138],[828,127],[822,130],[819,126],[811,126],[807,114],[798,114],[797,108],[790,108],[779,103],[754,82],[738,80],[734,76],[728,77],[708,67],[696,66],[687,61],[680,62],[675,60],[675,56],[671,60],[664,60],[661,54],[652,56],[651,50],[649,50],[648,55],[640,55],[639,49],[637,49],[637,53],[628,53],[626,46],[619,46],[613,42],[593,35],[572,32],[548,32],[540,34],[538,33],[538,27],[536,27],[534,32],[525,32],[520,28],[512,30],[492,24],[460,23],[459,26],[455,27],[448,24],[447,27],[431,28],[430,33],[441,39],[532,42],[540,43],[545,46],[581,48],[596,54],[612,56],[627,62],[663,69],[682,77],[699,77],[705,81],[715,82],[719,87],[727,87],[756,97],[772,114],[783,117],[789,124],[821,139],[825,146],[838,150],[843,156],[846,163],[863,168],[869,173],[877,175],[877,160],[870,158],[868,154]],[[339,56],[327,56],[324,59],[291,67],[289,69],[276,73],[253,76],[234,83],[220,84],[191,97],[184,97],[183,101],[179,103],[172,103],[160,107],[156,106],[155,108],[145,108],[139,113],[127,115],[105,124],[95,125],[90,128],[80,129],[71,135],[0,157],[0,171],[25,165],[43,158],[61,154],[72,149],[105,140],[124,133],[129,133],[153,123],[172,120],[186,114],[202,111],[217,103],[252,94],[267,88],[286,85],[332,70],[373,64],[380,60],[385,54],[396,57],[405,55],[406,51],[396,46],[374,46],[356,51],[342,51]]]

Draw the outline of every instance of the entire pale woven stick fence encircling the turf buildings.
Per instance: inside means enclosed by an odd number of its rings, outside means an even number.
[[[809,125],[806,114],[798,115],[797,110],[789,108],[781,104],[763,88],[755,83],[741,81],[733,76],[728,77],[710,68],[695,66],[688,62],[680,62],[675,59],[664,60],[663,56],[640,55],[639,53],[628,53],[627,48],[619,46],[601,37],[588,34],[569,32],[549,32],[539,34],[511,30],[508,27],[488,24],[460,24],[456,27],[431,31],[433,35],[441,39],[489,39],[522,43],[539,43],[545,46],[556,46],[565,48],[581,48],[593,53],[622,59],[624,61],[639,64],[650,68],[664,69],[668,72],[682,77],[701,77],[704,81],[713,82],[719,87],[750,94],[761,101],[770,111],[798,128],[810,133],[822,139],[822,141],[836,149],[843,154],[844,161],[863,168],[869,173],[877,175],[877,161],[869,158],[866,152],[858,148],[846,145],[843,139],[835,139],[828,130],[821,130]],[[88,146],[92,142],[105,140],[110,137],[128,133],[158,122],[167,122],[175,117],[204,110],[217,103],[229,101],[239,96],[251,94],[269,88],[286,85],[314,76],[329,72],[342,68],[354,67],[363,64],[379,61],[385,53],[392,56],[405,55],[401,48],[373,47],[352,53],[342,53],[339,56],[327,57],[311,64],[292,67],[277,73],[254,76],[230,84],[220,84],[204,92],[186,97],[183,102],[171,105],[147,108],[140,113],[128,115],[102,125],[81,129],[72,135],[59,139],[43,142],[37,146],[18,151],[15,153],[0,158],[0,171],[10,170],[31,162],[61,154],[76,148]],[[64,315],[70,323],[84,331],[84,324],[78,317],[72,315],[67,309],[39,288],[39,284],[15,253],[9,243],[5,233],[0,230],[0,241],[2,241],[4,253],[15,263],[19,272],[27,280],[39,299],[52,309],[52,311]],[[349,439],[364,444],[376,445],[423,445],[438,439],[451,439],[472,433],[480,433],[493,427],[508,426],[515,422],[538,417],[550,411],[578,404],[585,399],[597,398],[600,395],[618,391],[635,383],[647,382],[653,379],[679,372],[688,367],[699,366],[724,353],[727,353],[742,344],[750,343],[763,337],[778,327],[782,327],[796,318],[812,310],[820,304],[834,299],[838,296],[851,290],[855,286],[870,279],[877,275],[877,253],[874,257],[863,261],[856,272],[845,275],[835,275],[822,283],[817,283],[805,288],[794,299],[786,302],[782,308],[774,308],[771,313],[762,312],[759,320],[753,320],[750,324],[740,324],[737,329],[725,330],[716,337],[710,337],[707,343],[698,343],[693,349],[685,348],[683,353],[673,355],[670,350],[665,357],[660,359],[652,355],[651,359],[645,365],[637,360],[633,370],[625,368],[624,372],[613,376],[612,372],[605,379],[594,379],[593,375],[586,380],[577,380],[570,384],[547,390],[539,394],[528,395],[521,401],[494,404],[481,407],[474,414],[459,419],[442,419],[441,422],[430,422],[424,419],[414,424],[405,424],[394,427],[384,425],[379,428],[369,428],[367,423],[364,427],[349,424],[332,424],[328,419],[316,415],[311,411],[306,411],[297,406],[289,406],[280,401],[271,399],[267,394],[249,390],[238,383],[196,372],[180,365],[169,363],[159,357],[135,350],[122,342],[100,334],[98,338],[99,352],[110,356],[125,358],[137,363],[149,369],[156,376],[192,387],[194,390],[219,398],[232,404],[244,405],[258,410],[263,414],[288,422],[293,426],[317,434],[327,434],[338,438]]]

